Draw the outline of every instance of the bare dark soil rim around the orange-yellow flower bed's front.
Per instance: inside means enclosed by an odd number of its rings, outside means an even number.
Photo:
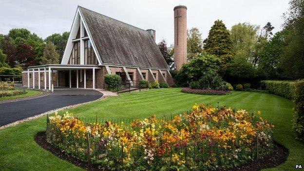
[[[48,143],[46,141],[45,132],[37,133],[37,135],[35,135],[35,137],[34,137],[34,140],[44,150],[52,152],[58,158],[66,160],[70,163],[73,163],[77,167],[80,167],[87,171],[100,171],[100,169],[97,166],[92,165],[86,161],[77,159],[75,157],[72,157],[68,154],[65,154],[64,152],[61,152],[60,149],[58,149],[58,148],[54,147],[52,144]],[[236,167],[236,168],[231,168],[231,169],[227,169],[227,170],[218,170],[218,171],[260,171],[262,169],[273,168],[273,167],[279,166],[280,164],[282,164],[286,161],[289,152],[284,146],[282,146],[276,142],[274,142],[274,144],[275,144],[274,153],[269,156],[262,157],[259,160],[256,160],[253,162],[248,162],[248,163],[246,163],[242,166]]]

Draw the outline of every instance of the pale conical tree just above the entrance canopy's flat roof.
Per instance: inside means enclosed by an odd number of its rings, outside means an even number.
[[[59,63],[59,54],[56,52],[55,46],[51,42],[48,42],[44,47],[40,65],[57,63]]]

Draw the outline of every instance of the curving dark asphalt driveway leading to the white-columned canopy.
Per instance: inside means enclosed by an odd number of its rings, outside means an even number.
[[[42,114],[57,108],[96,100],[102,93],[95,90],[54,90],[52,95],[0,104],[0,126]]]

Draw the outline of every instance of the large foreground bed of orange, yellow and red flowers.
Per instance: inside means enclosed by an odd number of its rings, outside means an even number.
[[[268,155],[272,125],[245,110],[194,105],[171,120],[152,116],[129,125],[85,124],[51,116],[47,141],[103,170],[220,170]]]

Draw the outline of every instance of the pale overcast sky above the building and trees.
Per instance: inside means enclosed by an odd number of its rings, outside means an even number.
[[[214,20],[227,28],[239,22],[264,26],[270,21],[280,31],[289,0],[1,0],[0,34],[26,28],[39,37],[70,31],[77,5],[142,29],[156,30],[156,42],[173,43],[173,7],[186,5],[187,26],[208,36]]]

